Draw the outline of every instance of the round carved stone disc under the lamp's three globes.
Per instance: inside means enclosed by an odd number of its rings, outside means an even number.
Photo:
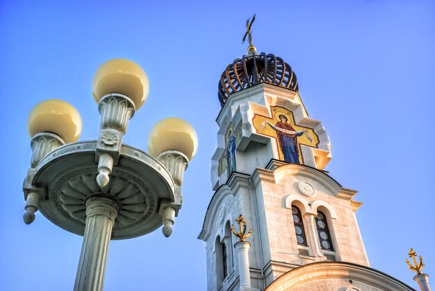
[[[145,235],[162,225],[158,207],[174,202],[174,182],[165,167],[145,152],[122,145],[110,181],[97,184],[97,141],[70,143],[52,151],[35,168],[33,184],[41,185],[44,217],[71,233],[85,233],[86,200],[95,194],[110,196],[118,205],[112,239]]]

